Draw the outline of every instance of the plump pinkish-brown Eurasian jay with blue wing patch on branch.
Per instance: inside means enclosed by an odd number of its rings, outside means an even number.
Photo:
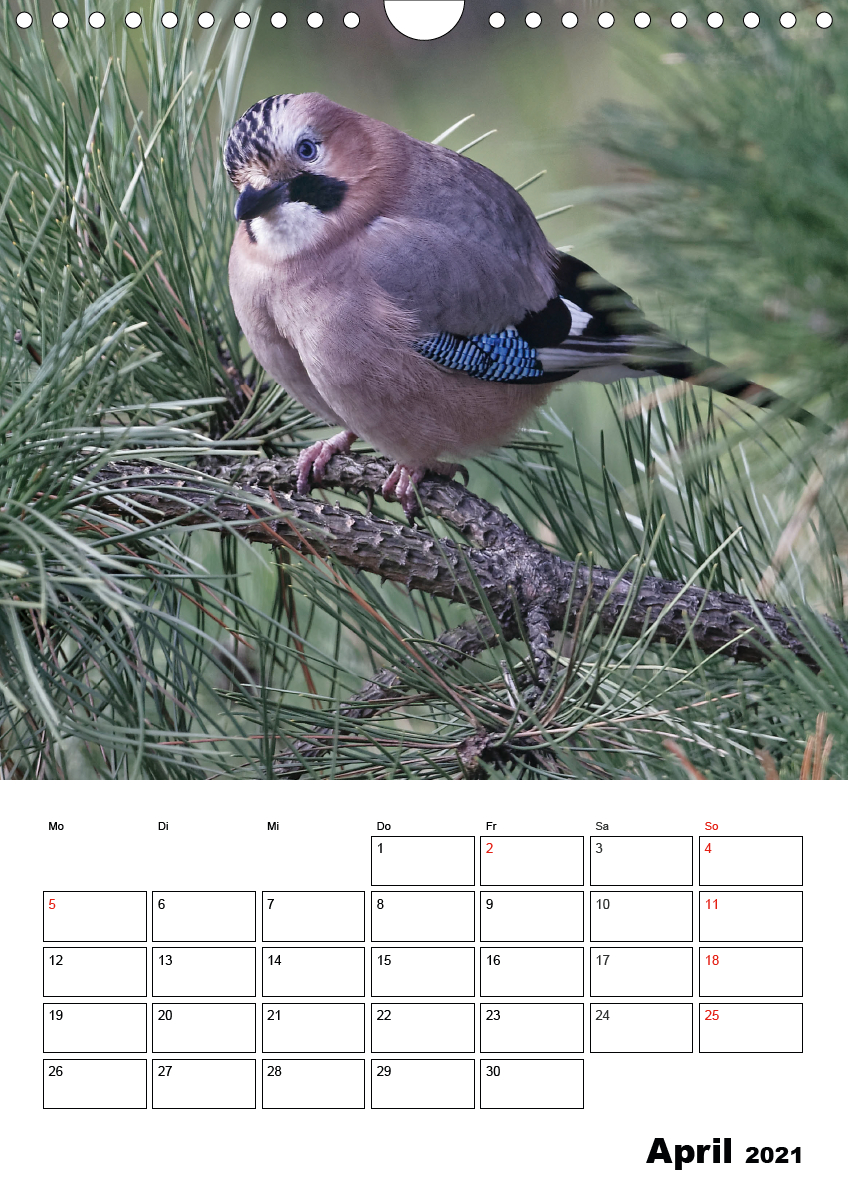
[[[555,251],[518,192],[452,150],[306,92],[253,104],[224,162],[245,336],[343,428],[301,452],[300,492],[360,437],[397,463],[384,494],[409,512],[426,470],[503,445],[563,379],[662,374],[774,398]]]

